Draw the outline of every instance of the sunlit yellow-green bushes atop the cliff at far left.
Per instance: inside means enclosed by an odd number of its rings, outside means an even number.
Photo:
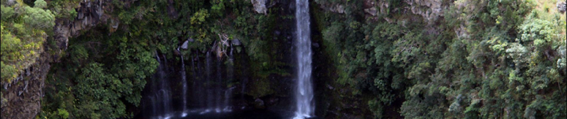
[[[43,52],[42,45],[46,39],[45,30],[55,25],[54,15],[50,10],[44,10],[45,1],[35,2],[29,7],[18,1],[14,5],[5,5],[2,1],[2,39],[0,55],[1,82],[11,82],[21,70],[35,63],[36,58]]]

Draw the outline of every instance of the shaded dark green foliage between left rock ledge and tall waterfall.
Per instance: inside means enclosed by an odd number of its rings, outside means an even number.
[[[50,1],[59,19],[77,16],[66,8],[70,1]],[[253,62],[252,76],[259,87],[248,94],[259,97],[273,94],[269,74],[287,74],[280,69],[283,55],[277,42],[270,42],[270,27],[277,19],[255,14],[248,1],[137,1],[126,7],[112,2],[107,24],[100,24],[69,39],[68,49],[54,64],[46,79],[46,93],[41,118],[120,118],[133,117],[132,108],[140,108],[141,91],[158,67],[155,53],[177,59],[172,52],[187,38],[196,39],[189,49],[211,51],[219,34],[238,38],[246,46]],[[169,7],[174,8],[171,11]],[[166,14],[164,14],[166,13]],[[119,21],[118,28],[113,22]],[[159,29],[159,30],[156,30]],[[282,41],[283,42],[283,41]],[[183,55],[194,55],[189,50]],[[278,55],[276,55],[278,54]],[[201,54],[204,58],[204,54]],[[177,59],[179,60],[179,59]],[[256,84],[256,83],[255,83]],[[262,87],[263,86],[263,87]]]

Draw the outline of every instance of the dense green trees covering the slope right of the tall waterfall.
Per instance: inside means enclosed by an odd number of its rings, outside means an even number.
[[[404,100],[405,118],[567,116],[565,14],[532,1],[460,0],[444,1],[450,8],[433,24],[407,13],[377,16],[397,20],[388,23],[363,20],[359,3],[344,4],[345,14],[317,17],[328,26],[323,41],[336,82],[374,96],[367,100],[376,117],[396,100]]]

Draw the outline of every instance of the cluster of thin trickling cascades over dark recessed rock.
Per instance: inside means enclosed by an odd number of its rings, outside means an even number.
[[[168,67],[165,54],[155,54],[159,66],[143,96],[144,117],[187,118],[198,117],[197,114],[232,112],[232,92],[236,86],[227,86],[234,80],[232,48],[227,60],[217,58],[218,54],[211,51],[206,52],[205,60],[200,60],[196,51],[191,55],[191,70],[185,69],[183,55],[180,56],[180,68],[174,68]],[[226,67],[225,61],[229,62]],[[188,71],[191,82],[188,82]]]

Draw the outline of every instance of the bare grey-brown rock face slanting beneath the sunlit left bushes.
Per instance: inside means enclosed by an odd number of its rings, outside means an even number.
[[[42,89],[50,63],[57,62],[61,57],[62,50],[67,49],[69,38],[79,36],[83,31],[101,23],[109,23],[115,29],[118,27],[118,20],[110,19],[109,15],[105,14],[106,11],[112,10],[109,2],[108,0],[81,1],[80,7],[75,9],[77,17],[74,20],[56,19],[54,34],[48,40],[55,40],[57,46],[44,43],[41,55],[34,64],[20,73],[19,80],[2,85],[2,96],[6,102],[2,102],[1,118],[34,118],[41,111],[41,98],[44,95]],[[125,3],[127,6],[127,3],[131,2]]]

